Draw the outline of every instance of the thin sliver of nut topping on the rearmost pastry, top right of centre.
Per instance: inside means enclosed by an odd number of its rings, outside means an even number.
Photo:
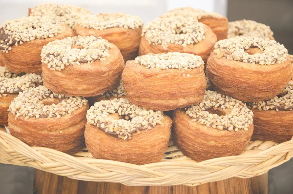
[[[192,17],[198,20],[202,18],[224,18],[224,16],[221,16],[218,13],[206,12],[202,9],[194,9],[192,7],[182,7],[182,8],[173,9],[163,14],[161,17],[170,17],[170,16],[183,16],[185,18]]]

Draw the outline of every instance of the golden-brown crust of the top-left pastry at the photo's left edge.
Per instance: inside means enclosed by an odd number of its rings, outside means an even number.
[[[48,42],[56,39],[64,39],[73,37],[73,30],[65,26],[65,30],[53,38],[34,39],[18,46],[13,46],[8,53],[2,53],[4,62],[10,72],[19,74],[40,73],[42,72],[41,51],[42,47]]]

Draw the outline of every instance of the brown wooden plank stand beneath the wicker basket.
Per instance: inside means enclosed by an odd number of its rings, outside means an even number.
[[[248,179],[229,178],[196,187],[129,187],[119,183],[79,181],[36,170],[35,187],[37,194],[267,194],[268,174]]]

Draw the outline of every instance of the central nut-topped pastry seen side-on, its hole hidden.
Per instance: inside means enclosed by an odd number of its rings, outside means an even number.
[[[204,61],[187,53],[150,54],[128,60],[122,80],[131,103],[158,111],[199,103],[207,86]]]

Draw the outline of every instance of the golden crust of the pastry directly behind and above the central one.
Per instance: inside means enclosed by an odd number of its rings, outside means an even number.
[[[160,44],[148,44],[146,38],[143,36],[139,45],[139,56],[148,53],[180,52],[198,55],[206,62],[210,52],[213,50],[214,44],[217,42],[217,36],[207,25],[205,25],[205,28],[207,28],[205,33],[206,39],[203,39],[196,44],[188,44],[186,47],[179,44],[167,44],[167,50],[165,50]]]

